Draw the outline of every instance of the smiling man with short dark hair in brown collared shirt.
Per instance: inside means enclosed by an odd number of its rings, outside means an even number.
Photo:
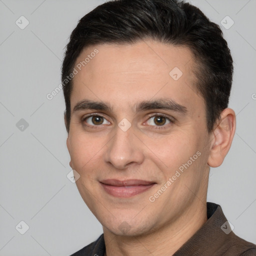
[[[116,0],[80,19],[62,65],[70,166],[103,234],[73,255],[255,255],[209,167],[235,132],[220,28],[178,0]]]

